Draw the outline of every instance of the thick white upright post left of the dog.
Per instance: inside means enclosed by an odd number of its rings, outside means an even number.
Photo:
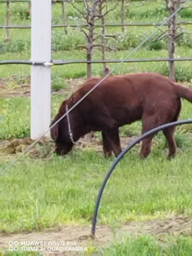
[[[51,0],[31,1],[31,60],[51,61]],[[51,68],[31,68],[31,138],[41,136],[50,125]],[[47,136],[49,134],[46,134]]]

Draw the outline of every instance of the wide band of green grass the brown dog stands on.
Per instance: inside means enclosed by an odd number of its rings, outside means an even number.
[[[62,100],[62,96],[53,97],[52,115]],[[183,103],[181,118],[188,118],[191,104]],[[4,106],[2,138],[29,136],[29,99],[1,99],[1,104]],[[140,122],[125,126],[121,134],[125,136],[128,130],[139,135],[140,127]],[[161,133],[154,139],[147,160],[139,160],[138,150],[132,150],[107,184],[99,223],[113,226],[171,212],[191,216],[191,131],[191,125],[177,127],[181,150],[170,161]],[[44,161],[23,157],[0,178],[3,209],[0,230],[19,232],[64,223],[90,223],[101,181],[113,159],[104,159],[102,154],[89,150],[74,150],[66,157],[52,156]],[[7,165],[8,161],[1,164]]]

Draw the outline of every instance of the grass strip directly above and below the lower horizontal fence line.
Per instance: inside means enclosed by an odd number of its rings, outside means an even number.
[[[119,50],[115,52],[107,52],[106,57],[108,59],[123,59],[131,50]],[[1,56],[1,55],[0,55]],[[30,56],[26,53],[5,53],[4,59],[29,59]],[[175,57],[187,57],[192,56],[192,49],[187,47],[177,47]],[[75,60],[75,59],[86,59],[86,52],[84,50],[74,51],[57,51],[52,53],[53,59],[63,60]],[[131,59],[142,59],[142,58],[164,58],[167,57],[167,50],[149,50],[140,49],[129,58]],[[100,59],[101,52],[99,50],[93,52],[93,59]],[[113,69],[116,64],[108,64],[109,68]],[[192,77],[192,62],[176,62],[176,80],[188,81]],[[24,75],[30,75],[30,66],[27,65],[2,65],[0,70],[0,78],[17,76],[18,79]],[[168,65],[164,62],[140,62],[140,63],[124,63],[119,66],[115,71],[115,74],[129,73],[129,72],[157,72],[163,75],[168,75]],[[102,73],[102,64],[92,64],[92,73],[94,76],[99,76]],[[63,66],[53,66],[52,75],[54,83],[61,83],[63,78],[77,78],[86,77],[86,64],[68,64]],[[65,82],[63,82],[65,83]]]

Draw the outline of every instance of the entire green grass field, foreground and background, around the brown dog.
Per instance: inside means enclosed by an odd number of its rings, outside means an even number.
[[[141,4],[143,5],[141,8]],[[0,24],[5,23],[5,4],[0,3]],[[191,3],[189,4],[190,7]],[[25,18],[27,5],[11,4],[11,23],[30,24]],[[81,8],[79,4],[79,8]],[[66,7],[71,23],[81,19],[77,11]],[[166,17],[167,10],[163,1],[133,1],[127,12],[126,22],[156,22]],[[24,17],[24,18],[23,18]],[[55,23],[62,22],[60,5],[53,6]],[[178,20],[190,21],[192,8],[180,12]],[[83,20],[81,20],[83,22]],[[109,13],[108,22],[119,22],[118,11]],[[184,28],[184,27],[183,27]],[[176,44],[175,57],[192,56],[191,25],[185,26],[185,34]],[[127,28],[124,40],[120,37],[115,51],[107,51],[108,59],[122,59],[136,47],[147,34],[149,28]],[[120,28],[107,29],[107,33],[120,33]],[[78,50],[79,44],[85,43],[80,31],[68,29],[53,30],[53,59],[85,59],[86,52]],[[0,60],[30,59],[30,30],[11,30],[11,43],[5,43],[5,31],[0,30]],[[73,43],[72,43],[73,42]],[[144,45],[130,58],[167,57],[167,41],[163,40],[158,49],[152,42]],[[93,52],[93,59],[100,59],[101,52]],[[116,64],[109,64],[110,68]],[[192,62],[177,62],[176,79],[191,86]],[[92,66],[93,75],[101,75],[102,65]],[[168,75],[166,63],[123,64],[116,73],[138,71],[158,72]],[[0,85],[7,88],[20,87],[29,83],[30,66],[1,65]],[[14,80],[12,79],[13,77]],[[86,65],[71,64],[53,66],[52,85],[65,88],[66,78],[86,77]],[[66,95],[70,92],[67,91]],[[52,96],[52,117],[58,111],[62,95]],[[180,119],[191,118],[192,105],[183,100]],[[30,98],[13,97],[0,99],[0,142],[30,136]],[[121,137],[139,136],[141,122],[136,122],[120,129]],[[101,138],[100,133],[96,133]],[[152,153],[146,160],[139,158],[140,145],[136,145],[120,162],[106,185],[99,209],[98,225],[107,225],[114,232],[125,223],[138,223],[146,220],[167,219],[174,216],[192,218],[192,125],[176,128],[175,137],[179,151],[174,159],[168,160],[167,145],[162,133],[154,138]],[[47,145],[39,146],[46,151]],[[15,155],[0,154],[1,171]],[[42,231],[47,227],[62,225],[76,226],[91,224],[95,199],[106,171],[111,166],[114,156],[105,159],[93,149],[74,149],[65,157],[54,154],[49,158],[31,158],[29,154],[21,157],[18,163],[0,176],[0,233]],[[0,235],[1,235],[0,234]],[[114,239],[105,246],[88,246],[86,255],[191,255],[192,233],[161,235],[125,235]],[[1,254],[1,253],[0,253]],[[2,255],[21,255],[6,252]],[[22,254],[23,255],[23,254]],[[31,254],[32,255],[32,254]],[[37,255],[34,253],[33,255]]]

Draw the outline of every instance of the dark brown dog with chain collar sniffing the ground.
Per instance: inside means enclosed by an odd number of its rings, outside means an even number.
[[[101,78],[87,80],[70,98],[63,101],[52,124],[70,109]],[[181,99],[192,102],[192,90],[155,73],[107,77],[74,110],[51,129],[56,152],[66,154],[74,141],[90,131],[101,131],[103,152],[117,156],[121,152],[118,127],[142,120],[142,133],[179,117]],[[163,130],[169,145],[169,157],[176,152],[174,127]],[[141,156],[147,157],[154,134],[143,139]]]

